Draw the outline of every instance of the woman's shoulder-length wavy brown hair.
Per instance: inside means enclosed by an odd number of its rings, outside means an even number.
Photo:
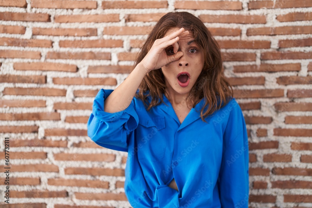
[[[143,60],[155,40],[164,37],[168,30],[176,27],[184,27],[185,30],[192,32],[194,42],[201,47],[204,53],[205,62],[202,72],[188,95],[187,103],[191,102],[194,108],[204,98],[205,104],[201,109],[200,116],[206,122],[204,118],[230,101],[233,97],[233,89],[223,75],[219,45],[199,18],[188,12],[165,14],[150,32],[136,58],[135,66]],[[135,94],[135,97],[141,99],[147,110],[150,110],[152,107],[164,103],[165,89],[166,85],[161,68],[152,70],[142,80],[139,92]],[[151,96],[150,102],[146,102],[148,96]]]

